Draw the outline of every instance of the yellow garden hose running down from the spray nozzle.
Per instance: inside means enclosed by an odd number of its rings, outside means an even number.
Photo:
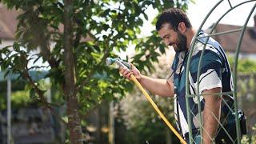
[[[138,86],[139,90],[142,90],[142,93],[145,95],[146,99],[150,102],[150,104],[154,107],[154,110],[157,111],[157,113],[160,115],[160,117],[163,119],[164,122],[166,122],[166,125],[174,132],[174,134],[178,137],[178,139],[183,143],[186,144],[186,141],[178,134],[177,130],[174,129],[174,126],[171,126],[170,122],[167,120],[167,118],[162,114],[162,112],[158,109],[158,106],[153,102],[152,98],[150,98],[150,95],[146,93],[146,90],[142,87],[142,85],[138,82],[138,80],[134,77],[133,74],[130,75],[130,78],[134,81],[135,85]]]

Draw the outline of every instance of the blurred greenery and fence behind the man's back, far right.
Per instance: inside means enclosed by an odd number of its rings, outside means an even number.
[[[234,68],[234,59],[229,58],[230,66]],[[242,144],[255,143],[255,82],[256,62],[249,58],[238,60],[238,107],[241,108],[247,117],[248,134],[242,137]]]

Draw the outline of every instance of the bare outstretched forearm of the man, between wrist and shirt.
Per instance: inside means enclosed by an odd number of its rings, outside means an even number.
[[[170,86],[171,84],[166,82],[166,79],[150,78],[142,75],[139,82],[146,90],[150,90],[153,94],[158,94],[163,97],[171,97],[174,95],[173,86]]]

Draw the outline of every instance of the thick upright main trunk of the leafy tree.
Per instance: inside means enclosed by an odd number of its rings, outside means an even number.
[[[70,130],[70,142],[82,144],[81,119],[78,114],[78,98],[76,92],[75,65],[73,53],[73,30],[72,30],[73,1],[64,1],[64,66],[65,84],[64,93],[67,100],[66,114],[68,117],[68,129]]]

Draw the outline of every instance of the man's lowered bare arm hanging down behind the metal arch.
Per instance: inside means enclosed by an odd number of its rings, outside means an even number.
[[[204,90],[203,94],[221,93],[222,88]],[[211,139],[216,137],[218,121],[221,115],[222,97],[218,95],[205,95],[205,107],[203,110],[203,143],[210,144]]]

